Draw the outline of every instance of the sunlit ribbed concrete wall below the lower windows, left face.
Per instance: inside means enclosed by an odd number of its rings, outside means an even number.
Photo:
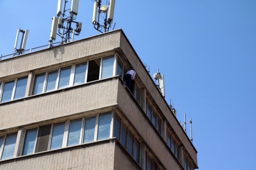
[[[0,170],[112,170],[114,152],[115,142],[106,140],[0,161]]]

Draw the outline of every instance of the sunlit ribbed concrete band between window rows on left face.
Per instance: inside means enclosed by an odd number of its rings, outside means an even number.
[[[111,106],[117,86],[115,77],[0,104],[0,130]]]

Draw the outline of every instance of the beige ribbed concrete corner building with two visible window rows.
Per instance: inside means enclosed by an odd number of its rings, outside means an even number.
[[[198,168],[121,29],[1,60],[0,84],[0,170]]]

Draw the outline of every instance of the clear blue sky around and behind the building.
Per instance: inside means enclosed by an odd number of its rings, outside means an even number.
[[[255,0],[116,0],[115,29],[152,76],[165,75],[177,118],[192,117],[199,169],[255,169],[255,9]],[[57,0],[0,0],[0,55],[13,52],[18,28],[29,30],[26,49],[48,44],[56,10]],[[75,39],[100,33],[92,10],[80,0]]]

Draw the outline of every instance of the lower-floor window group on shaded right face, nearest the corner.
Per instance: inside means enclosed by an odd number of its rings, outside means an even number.
[[[131,133],[131,131],[125,126],[121,118],[115,114],[114,121],[114,137],[117,138],[123,147],[129,152],[129,154],[139,164],[140,158],[140,142]]]

